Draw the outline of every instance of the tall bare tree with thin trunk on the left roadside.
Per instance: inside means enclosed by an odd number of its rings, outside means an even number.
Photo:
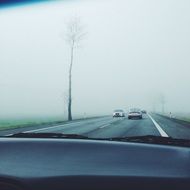
[[[80,41],[84,38],[84,27],[81,25],[78,17],[73,17],[67,23],[66,41],[70,48],[70,63],[69,63],[69,89],[68,89],[68,120],[72,120],[72,69],[74,50],[78,47]]]

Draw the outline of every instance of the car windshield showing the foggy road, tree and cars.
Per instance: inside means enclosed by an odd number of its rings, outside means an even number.
[[[0,136],[190,140],[189,7],[187,0],[0,6]]]

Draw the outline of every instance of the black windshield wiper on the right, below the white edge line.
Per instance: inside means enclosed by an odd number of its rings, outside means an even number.
[[[121,138],[115,137],[115,138],[110,138],[110,140],[122,141],[122,142],[134,142],[134,143],[136,142],[136,143],[149,143],[149,144],[190,147],[190,140],[188,139],[176,139],[172,137],[162,137],[162,136],[154,136],[154,135],[121,137]]]

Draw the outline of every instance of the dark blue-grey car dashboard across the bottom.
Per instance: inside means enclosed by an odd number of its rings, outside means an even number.
[[[190,189],[190,149],[0,138],[0,190]]]

